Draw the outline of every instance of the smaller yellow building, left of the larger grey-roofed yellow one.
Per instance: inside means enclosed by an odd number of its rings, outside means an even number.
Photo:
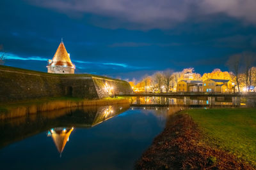
[[[176,92],[202,92],[202,81],[180,80]]]

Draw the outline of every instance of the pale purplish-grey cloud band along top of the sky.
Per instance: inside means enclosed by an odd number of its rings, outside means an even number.
[[[224,13],[256,24],[255,0],[27,0],[67,15],[92,13],[120,24],[169,28],[189,17]],[[101,20],[104,22],[104,20]],[[110,21],[109,21],[110,22]],[[113,22],[116,24],[116,22]],[[114,24],[114,25],[115,25]],[[109,27],[113,24],[109,24]],[[118,26],[118,25],[115,25]],[[119,25],[120,26],[120,25]]]

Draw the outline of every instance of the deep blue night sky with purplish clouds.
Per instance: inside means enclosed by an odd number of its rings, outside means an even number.
[[[47,71],[61,38],[76,73],[124,80],[194,67],[228,71],[256,52],[255,0],[1,0],[6,66]]]

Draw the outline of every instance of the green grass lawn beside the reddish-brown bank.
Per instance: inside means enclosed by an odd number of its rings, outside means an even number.
[[[186,111],[205,133],[204,142],[256,166],[256,108]]]

